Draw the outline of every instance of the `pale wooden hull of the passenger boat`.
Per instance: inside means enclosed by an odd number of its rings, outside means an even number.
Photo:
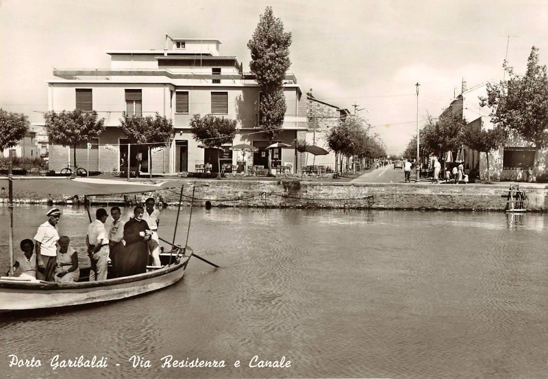
[[[190,256],[162,269],[101,282],[16,282],[0,280],[0,312],[111,302],[157,291],[181,280]]]

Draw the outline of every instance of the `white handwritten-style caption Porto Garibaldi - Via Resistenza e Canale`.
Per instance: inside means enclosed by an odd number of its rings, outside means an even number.
[[[106,369],[108,367],[118,367],[121,365],[129,365],[135,369],[147,369],[151,367],[160,367],[162,369],[171,368],[223,368],[229,367],[250,367],[250,368],[279,368],[287,369],[291,367],[291,361],[282,356],[277,359],[264,359],[258,355],[253,356],[249,360],[234,360],[232,363],[227,363],[225,360],[209,360],[201,358],[177,358],[171,354],[162,356],[159,360],[151,360],[145,356],[132,355],[125,362],[112,363],[105,356],[75,356],[65,357],[60,354],[55,354],[51,358],[37,358],[35,356],[16,356],[10,354],[8,356],[9,367],[50,367],[53,370],[66,368],[90,368],[90,369]]]

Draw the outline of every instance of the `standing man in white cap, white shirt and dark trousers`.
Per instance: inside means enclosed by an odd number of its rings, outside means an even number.
[[[61,217],[61,211],[58,208],[51,208],[47,211],[46,216],[48,220],[38,226],[38,231],[34,236],[36,259],[38,260],[38,269],[43,271],[44,280],[54,282],[55,266],[57,266],[57,242],[59,241],[57,224]]]

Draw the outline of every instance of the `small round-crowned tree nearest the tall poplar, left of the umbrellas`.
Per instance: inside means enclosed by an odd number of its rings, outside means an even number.
[[[190,132],[195,140],[199,140],[205,147],[217,149],[217,164],[219,164],[217,178],[221,178],[221,146],[234,140],[236,134],[236,120],[216,117],[211,114],[201,117],[195,114],[190,119]]]

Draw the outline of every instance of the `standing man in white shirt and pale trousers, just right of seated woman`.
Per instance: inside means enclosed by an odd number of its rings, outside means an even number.
[[[95,280],[106,280],[108,274],[108,233],[105,229],[108,213],[105,209],[99,208],[95,212],[96,220],[88,226],[86,244],[90,256],[90,282]]]

